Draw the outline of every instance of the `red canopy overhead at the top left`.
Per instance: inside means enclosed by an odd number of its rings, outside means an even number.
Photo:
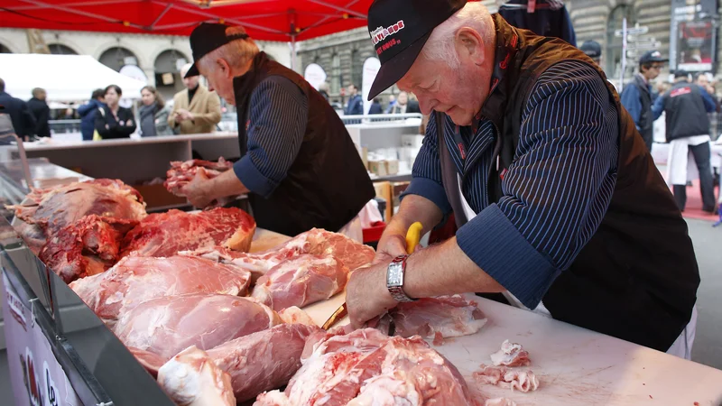
[[[371,0],[3,0],[0,26],[190,35],[243,25],[256,40],[296,41],[366,26]],[[295,37],[295,38],[294,38]]]

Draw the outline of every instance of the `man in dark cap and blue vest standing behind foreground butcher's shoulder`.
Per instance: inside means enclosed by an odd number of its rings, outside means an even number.
[[[654,142],[653,118],[652,118],[652,80],[660,75],[660,70],[667,60],[662,58],[660,51],[646,51],[639,59],[639,72],[634,75],[631,82],[625,85],[619,97],[622,106],[625,106],[629,115],[632,115],[637,131],[642,134],[642,139],[647,145],[647,150],[652,151]]]

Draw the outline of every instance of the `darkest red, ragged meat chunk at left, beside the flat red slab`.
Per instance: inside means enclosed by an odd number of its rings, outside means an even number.
[[[39,257],[66,283],[105,272],[118,260],[123,235],[137,224],[116,217],[82,217],[51,235]]]

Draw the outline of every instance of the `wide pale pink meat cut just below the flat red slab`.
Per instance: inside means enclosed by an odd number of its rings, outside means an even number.
[[[250,278],[234,265],[204,258],[129,256],[69,286],[99,318],[113,324],[122,312],[145,300],[186,293],[245,295]]]

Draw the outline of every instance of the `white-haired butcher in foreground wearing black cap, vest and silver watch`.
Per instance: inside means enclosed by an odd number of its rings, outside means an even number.
[[[687,226],[597,65],[466,0],[376,0],[368,28],[382,63],[369,97],[396,82],[436,113],[375,265],[347,285],[352,323],[412,298],[502,292],[689,356]],[[405,254],[413,222],[429,231],[452,212],[455,237]]]

